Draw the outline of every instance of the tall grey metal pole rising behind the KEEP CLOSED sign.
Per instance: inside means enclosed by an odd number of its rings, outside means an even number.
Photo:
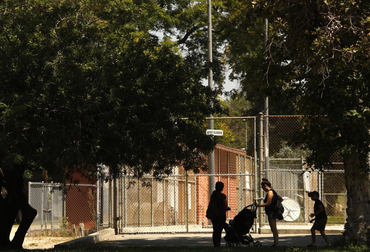
[[[208,73],[208,87],[213,88],[213,73],[212,73],[212,4],[211,0],[207,0],[207,16],[208,16],[208,63],[209,63],[209,73]],[[210,102],[212,106],[212,103]],[[209,117],[213,117],[212,114]],[[213,120],[208,121],[209,130],[213,130]],[[213,151],[208,154],[208,165],[209,174],[215,174],[215,154]],[[211,196],[215,188],[215,177],[209,176],[209,196]]]

